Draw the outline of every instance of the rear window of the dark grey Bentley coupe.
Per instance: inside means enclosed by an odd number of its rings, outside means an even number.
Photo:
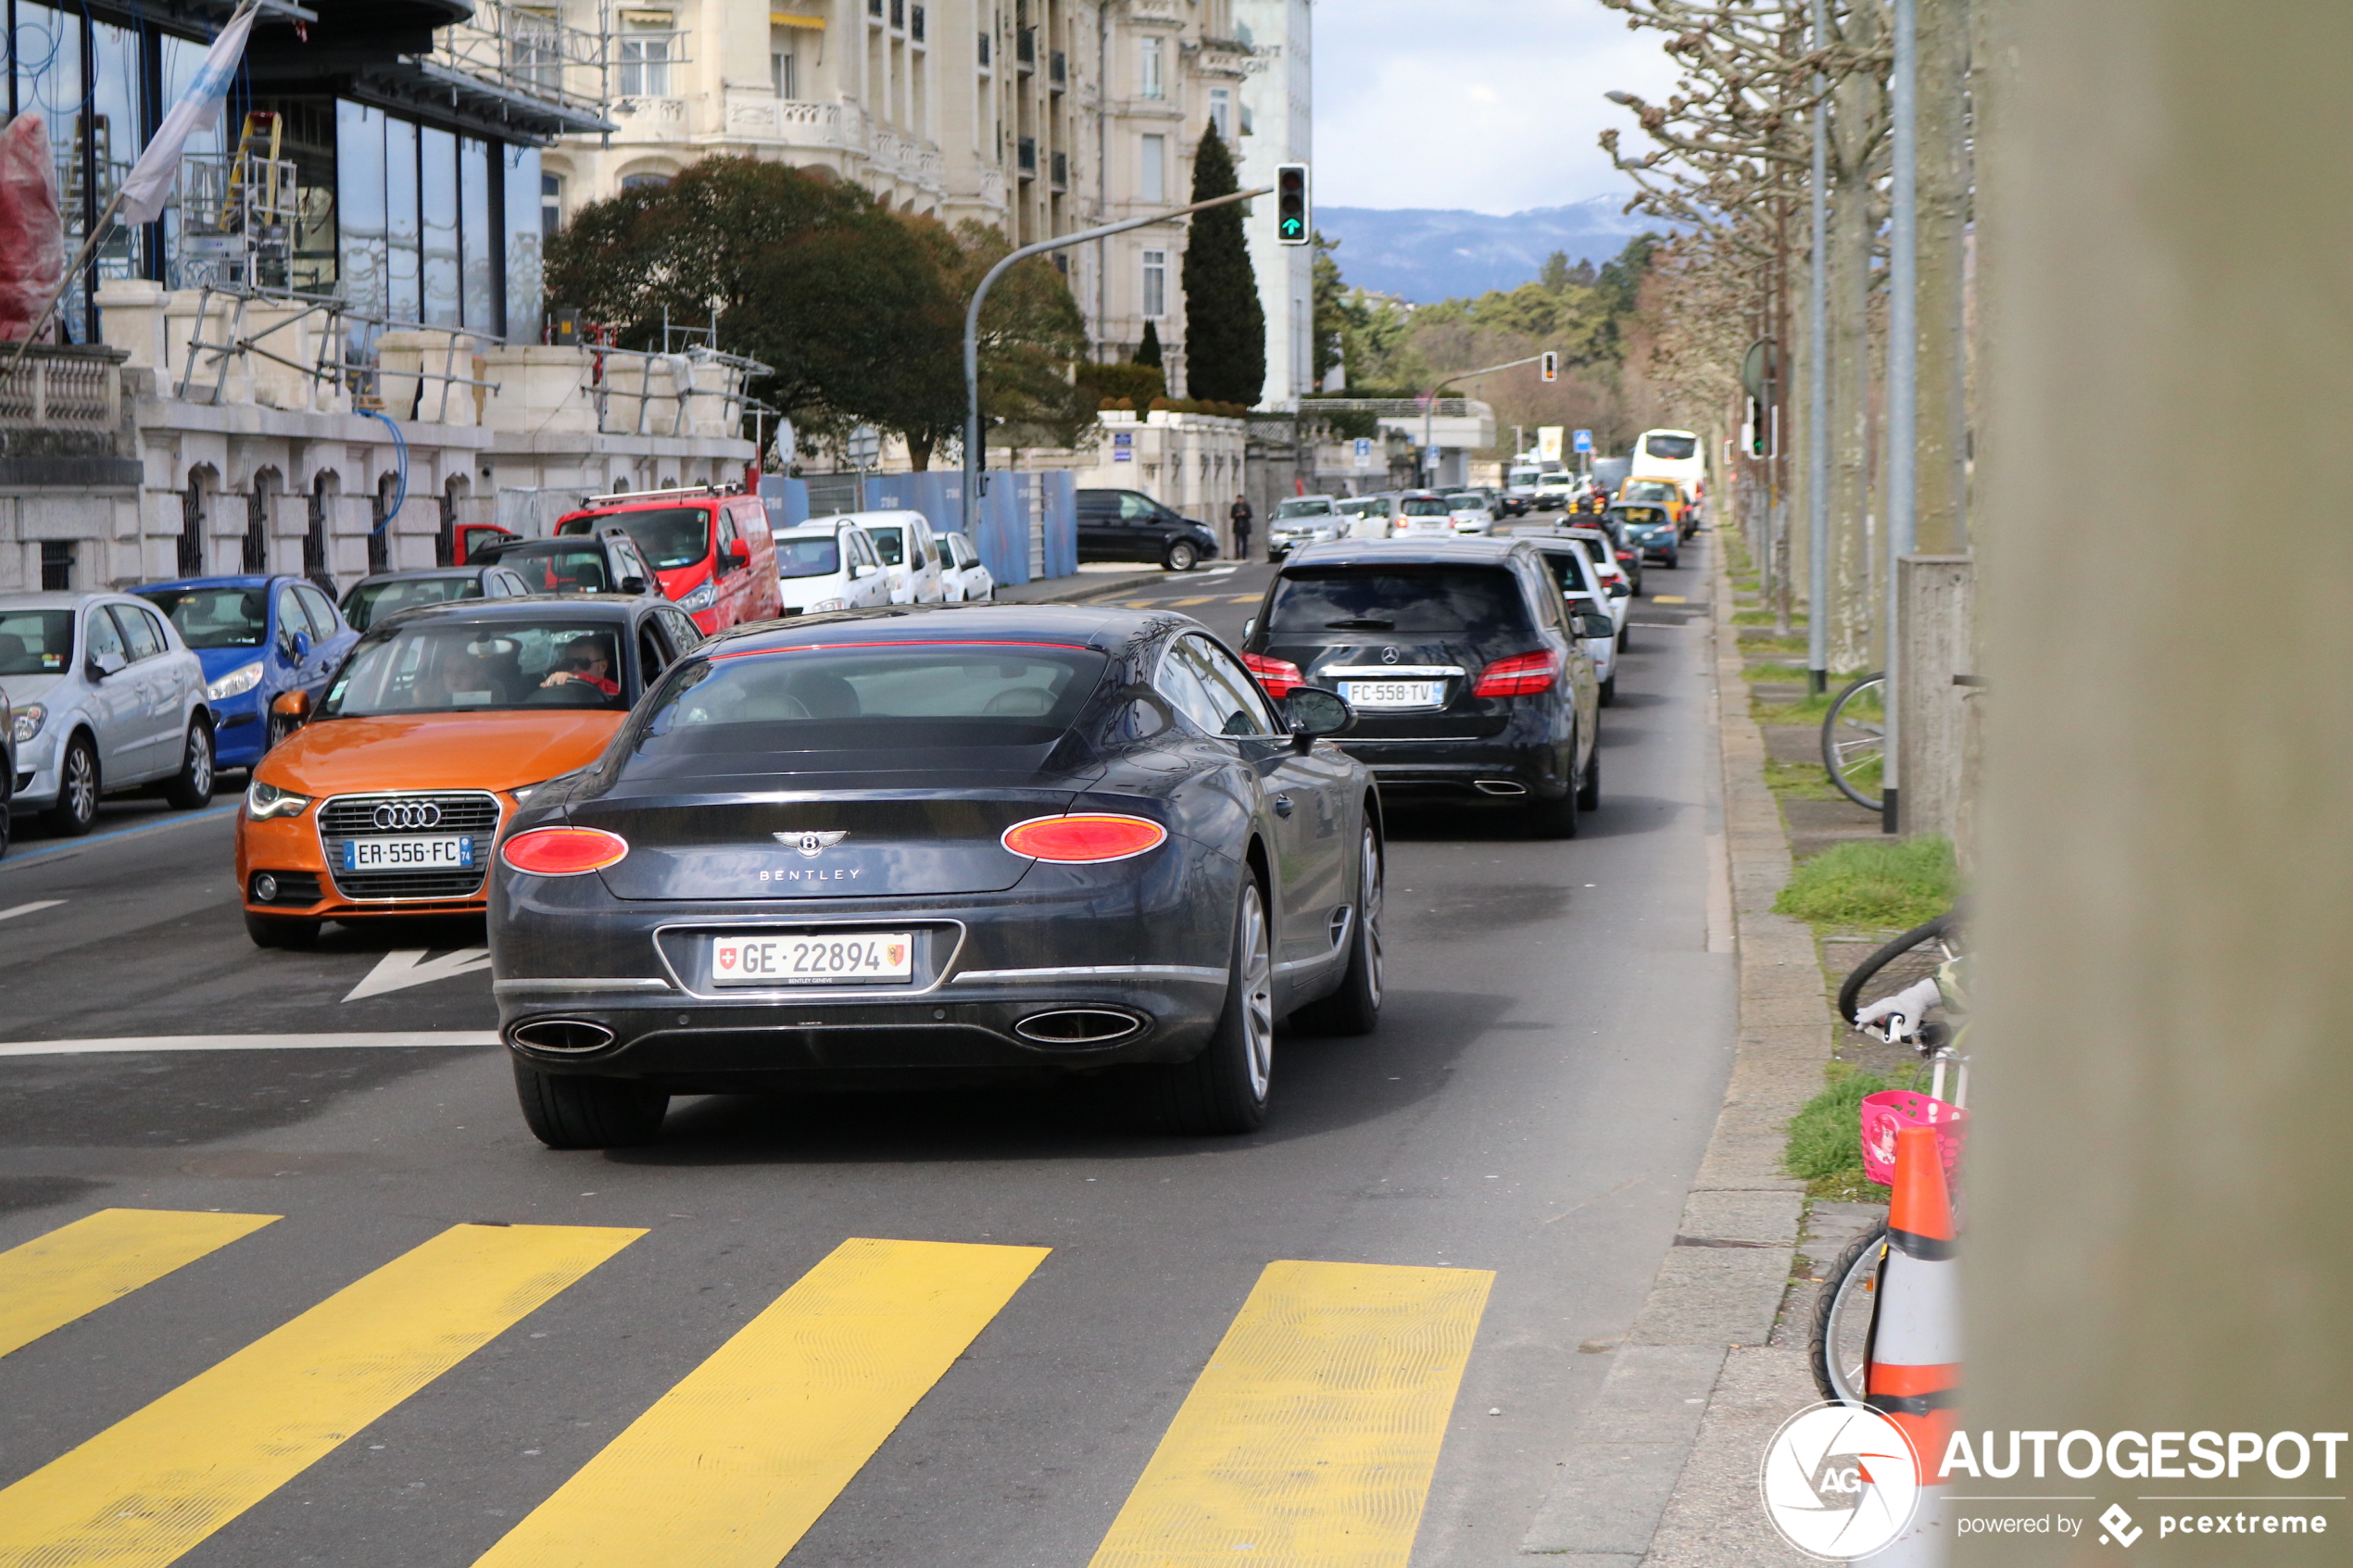
[[[635,752],[1045,745],[1071,726],[1108,663],[1094,649],[969,642],[687,661]]]

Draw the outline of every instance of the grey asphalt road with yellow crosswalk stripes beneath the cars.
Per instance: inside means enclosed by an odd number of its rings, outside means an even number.
[[[464,1044],[480,926],[254,950],[226,795],[26,835],[0,1563],[1395,1561],[1346,1552],[1417,1509],[1414,1563],[1511,1561],[1732,1058],[1704,557],[1647,583],[1581,837],[1393,818],[1381,1027],[1282,1037],[1252,1138],[1066,1088],[682,1100],[551,1154]],[[1264,578],[1115,597],[1238,637]]]

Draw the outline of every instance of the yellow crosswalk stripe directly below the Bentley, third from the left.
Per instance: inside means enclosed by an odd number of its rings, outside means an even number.
[[[842,1241],[475,1568],[774,1568],[1045,1255]]]

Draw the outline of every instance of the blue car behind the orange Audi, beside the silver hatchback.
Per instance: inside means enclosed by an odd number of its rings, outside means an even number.
[[[296,576],[202,576],[134,590],[162,609],[205,665],[214,759],[249,769],[292,729],[271,717],[282,691],[315,703],[360,639],[320,588]]]

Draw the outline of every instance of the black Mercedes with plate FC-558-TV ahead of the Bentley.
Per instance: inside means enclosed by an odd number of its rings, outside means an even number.
[[[1355,710],[1339,748],[1384,797],[1508,799],[1569,837],[1600,804],[1600,696],[1581,611],[1518,538],[1334,541],[1294,550],[1242,639],[1280,698],[1329,686]]]

